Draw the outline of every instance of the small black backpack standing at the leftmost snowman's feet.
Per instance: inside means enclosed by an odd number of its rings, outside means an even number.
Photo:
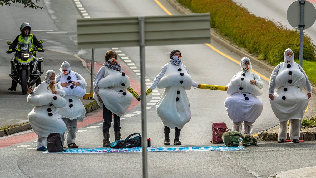
[[[66,148],[63,148],[61,143],[60,134],[57,132],[50,133],[47,137],[47,151],[48,152],[63,152]]]

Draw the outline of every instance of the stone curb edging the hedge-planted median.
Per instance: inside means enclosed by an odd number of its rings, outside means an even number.
[[[183,7],[180,3],[178,3],[176,0],[166,0],[168,3],[171,4],[173,8],[175,8],[180,14],[193,14],[191,10]],[[211,40],[214,40],[218,44],[222,45],[223,47],[227,48],[228,50],[234,52],[235,54],[239,56],[245,56],[251,60],[251,63],[254,65],[257,65],[258,67],[261,67],[265,71],[268,71],[270,74],[272,73],[274,66],[270,66],[266,63],[264,63],[261,60],[258,60],[257,58],[253,57],[251,54],[247,53],[245,50],[238,48],[234,44],[232,44],[230,41],[225,40],[222,38],[219,34],[216,33],[214,29],[210,29],[211,34]],[[269,78],[270,76],[268,76]],[[312,93],[316,94],[316,87],[312,86]]]

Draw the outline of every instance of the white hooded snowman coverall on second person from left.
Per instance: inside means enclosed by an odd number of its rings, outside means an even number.
[[[68,70],[68,74],[64,74],[63,69]],[[55,81],[60,85],[64,82],[70,83],[70,86],[63,87],[66,92],[64,96],[66,106],[58,108],[59,114],[63,117],[64,123],[68,127],[68,130],[66,130],[61,139],[63,144],[66,138],[67,143],[71,144],[76,141],[76,133],[78,131],[77,122],[82,122],[86,114],[86,109],[78,97],[83,97],[86,94],[87,82],[79,73],[72,71],[70,64],[66,61],[62,63],[59,70],[61,73],[56,75]],[[78,82],[80,85],[73,86],[72,82]]]

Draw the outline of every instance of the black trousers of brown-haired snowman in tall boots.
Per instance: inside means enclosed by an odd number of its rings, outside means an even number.
[[[108,110],[105,105],[103,104],[103,127],[102,127],[102,131],[103,133],[108,132],[110,130],[111,127],[111,123],[112,123],[112,112],[110,110]],[[114,132],[119,132],[121,131],[121,117],[119,117],[116,114],[113,114],[114,117],[114,125],[113,125],[113,129]]]

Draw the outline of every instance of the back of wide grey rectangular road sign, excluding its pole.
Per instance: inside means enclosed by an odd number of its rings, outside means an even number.
[[[210,14],[145,16],[145,45],[210,42]],[[139,46],[138,17],[77,19],[78,48]]]

